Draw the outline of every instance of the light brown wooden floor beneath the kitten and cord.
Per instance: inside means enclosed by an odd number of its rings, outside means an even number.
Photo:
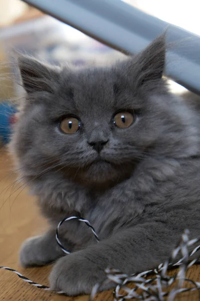
[[[18,249],[22,241],[40,233],[46,227],[34,205],[34,197],[27,190],[15,184],[11,172],[9,157],[0,150],[0,266],[8,266],[21,272],[24,276],[39,283],[48,285],[47,279],[51,266],[22,269],[18,264]],[[200,281],[200,266],[193,266],[187,277]],[[0,301],[86,301],[88,296],[76,298],[57,295],[40,290],[19,279],[14,273],[0,270]],[[99,294],[95,301],[112,300],[112,292]],[[176,300],[198,300],[198,293],[184,293]]]

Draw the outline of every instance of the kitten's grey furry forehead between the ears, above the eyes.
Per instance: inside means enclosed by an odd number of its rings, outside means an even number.
[[[75,115],[82,120],[110,121],[116,111],[133,108],[132,92],[125,81],[116,67],[63,69],[46,111],[52,118]]]

